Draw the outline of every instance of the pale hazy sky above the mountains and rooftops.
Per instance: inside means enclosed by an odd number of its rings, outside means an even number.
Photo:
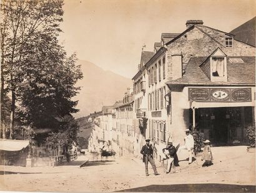
[[[66,0],[61,42],[67,53],[132,78],[142,45],[153,51],[162,32],[185,31],[189,19],[230,32],[252,19],[255,0]]]

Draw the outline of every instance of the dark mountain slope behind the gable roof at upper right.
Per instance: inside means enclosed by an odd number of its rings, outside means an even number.
[[[255,46],[255,22],[256,17],[235,28],[230,34],[235,35],[236,40]]]

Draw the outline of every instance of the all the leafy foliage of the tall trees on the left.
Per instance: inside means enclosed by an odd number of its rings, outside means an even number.
[[[14,113],[21,125],[30,126],[35,133],[43,128],[52,131],[50,136],[37,133],[34,138],[40,143],[51,136],[63,140],[62,135],[74,139],[67,133],[76,136],[71,113],[78,110],[72,97],[79,92],[75,84],[82,73],[76,54],[67,57],[57,39],[62,5],[59,0],[1,3],[1,93],[11,93],[10,138]]]

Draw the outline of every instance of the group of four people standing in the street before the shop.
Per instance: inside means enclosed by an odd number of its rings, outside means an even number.
[[[184,146],[180,146],[179,148],[175,148],[172,141],[169,141],[167,143],[166,148],[162,149],[162,152],[165,154],[165,159],[168,159],[168,165],[167,165],[167,171],[166,173],[170,172],[170,169],[172,167],[172,164],[174,166],[179,166],[179,159],[177,157],[177,154],[180,153],[182,149],[187,149],[189,153],[189,164],[192,163],[192,157],[194,156],[194,137],[192,134],[190,134],[190,130],[185,130],[185,138],[184,138]],[[142,147],[140,153],[143,154],[143,162],[145,163],[145,175],[149,176],[149,162],[154,170],[155,176],[159,175],[159,172],[157,172],[157,168],[155,166],[154,158],[153,158],[153,152],[154,147],[152,144],[150,144],[150,139],[145,140],[146,144]],[[202,161],[204,160],[204,164],[202,166],[211,166],[213,157],[212,157],[212,151],[210,149],[210,141],[207,139],[204,141],[204,151],[202,153]],[[178,151],[177,151],[178,150]]]

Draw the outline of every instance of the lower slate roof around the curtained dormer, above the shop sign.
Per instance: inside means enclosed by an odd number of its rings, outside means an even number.
[[[230,63],[229,59],[244,63]],[[182,78],[167,82],[170,85],[255,85],[255,57],[227,57],[227,82],[211,82],[199,67],[207,57],[192,57]]]

